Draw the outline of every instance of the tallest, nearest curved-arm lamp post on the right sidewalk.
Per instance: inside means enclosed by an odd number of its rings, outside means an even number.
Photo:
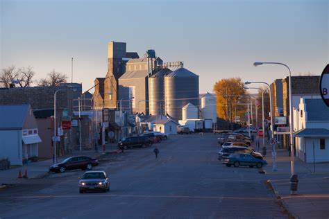
[[[294,121],[292,120],[292,71],[290,71],[287,64],[283,64],[280,62],[254,62],[253,65],[255,67],[262,64],[279,64],[286,67],[289,71],[289,128],[290,128],[290,159],[291,159],[291,167],[292,167],[292,175],[290,177],[290,182],[292,185],[290,188],[290,193],[295,195],[297,193],[297,184],[298,184],[298,176],[295,174],[295,159],[294,159],[294,138],[293,138],[293,125]],[[294,188],[293,188],[294,187]]]

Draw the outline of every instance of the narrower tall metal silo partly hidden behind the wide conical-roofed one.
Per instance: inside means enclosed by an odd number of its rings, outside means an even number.
[[[149,113],[151,115],[165,114],[165,76],[170,69],[160,69],[149,77]]]

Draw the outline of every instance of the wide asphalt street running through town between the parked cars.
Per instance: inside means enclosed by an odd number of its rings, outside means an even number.
[[[154,146],[105,157],[108,193],[78,193],[83,171],[26,180],[0,191],[0,218],[287,218],[258,169],[217,160],[216,137],[171,137],[158,159]]]

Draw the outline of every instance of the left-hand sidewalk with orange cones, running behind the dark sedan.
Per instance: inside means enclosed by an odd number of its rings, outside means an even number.
[[[73,157],[73,156],[79,156],[79,155],[85,155],[87,157],[101,157],[101,155],[104,155],[108,152],[115,152],[117,151],[117,144],[107,144],[106,150],[103,150],[103,146],[98,147],[98,152],[95,152],[95,150],[75,150],[69,155],[65,155],[62,157],[58,157],[58,162],[60,163],[67,157]],[[18,184],[19,182],[24,182],[26,179],[19,179],[19,170],[22,171],[22,175],[25,174],[25,171],[27,170],[28,179],[37,179],[42,178],[48,174],[49,166],[53,164],[53,159],[47,159],[44,161],[39,161],[31,164],[26,164],[24,166],[20,166],[17,168],[10,168],[9,170],[0,170],[0,186],[1,184]]]

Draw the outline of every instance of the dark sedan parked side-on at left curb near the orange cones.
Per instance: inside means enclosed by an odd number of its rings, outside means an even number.
[[[68,157],[59,164],[53,164],[49,167],[49,172],[64,173],[66,170],[91,170],[93,166],[99,165],[96,158],[85,156]]]

